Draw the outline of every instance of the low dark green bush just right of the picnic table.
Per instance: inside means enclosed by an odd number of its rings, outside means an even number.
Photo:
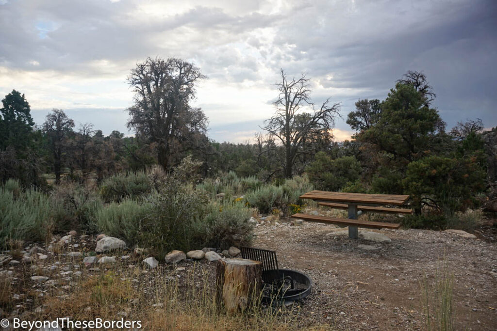
[[[485,189],[485,171],[475,157],[429,156],[409,164],[403,184],[414,209],[419,210],[422,199],[429,197],[445,214],[452,215],[471,206],[472,197]]]

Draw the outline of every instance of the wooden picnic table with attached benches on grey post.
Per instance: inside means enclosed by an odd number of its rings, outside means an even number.
[[[314,190],[300,196],[301,199],[312,199],[320,205],[338,209],[348,210],[348,219],[338,217],[327,217],[297,213],[293,218],[301,218],[307,221],[332,223],[348,226],[348,236],[352,239],[358,238],[358,227],[362,228],[390,228],[398,229],[400,224],[388,222],[372,222],[357,220],[357,211],[380,212],[380,213],[412,213],[412,209],[395,208],[390,206],[402,206],[409,196],[387,195],[387,194],[362,194],[328,192]],[[387,207],[388,206],[388,207]]]

